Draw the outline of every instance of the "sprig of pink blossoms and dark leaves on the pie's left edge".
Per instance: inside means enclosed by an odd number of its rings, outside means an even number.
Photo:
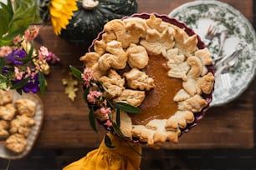
[[[121,138],[125,138],[125,135],[120,130],[120,112],[140,113],[141,110],[138,107],[131,106],[125,102],[112,102],[105,97],[105,92],[108,89],[99,80],[95,80],[94,71],[89,67],[85,67],[83,72],[80,72],[77,68],[70,66],[70,70],[74,77],[78,78],[84,86],[84,101],[87,102],[90,107],[89,121],[90,126],[98,132],[96,128],[95,118],[100,123],[105,125],[105,128],[112,133],[116,133]],[[112,113],[116,112],[115,120],[112,118]],[[98,117],[99,116],[99,117]],[[100,120],[100,117],[104,117]],[[112,148],[110,138],[105,135],[105,145]]]

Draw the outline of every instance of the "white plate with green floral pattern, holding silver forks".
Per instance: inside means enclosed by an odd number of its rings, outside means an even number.
[[[256,36],[248,19],[227,3],[213,0],[187,2],[174,9],[169,17],[186,23],[203,42],[207,42],[205,35],[210,25],[218,26],[219,32],[228,30],[228,37],[223,46],[223,56],[232,53],[238,42],[243,44],[243,51],[238,56],[238,64],[225,70],[220,77],[216,77],[211,107],[223,105],[238,97],[253,80],[256,66]],[[207,47],[212,52],[212,58],[216,58],[219,38],[213,38],[212,43]]]

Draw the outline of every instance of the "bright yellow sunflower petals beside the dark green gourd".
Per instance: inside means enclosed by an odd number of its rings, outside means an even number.
[[[49,6],[50,19],[54,32],[59,35],[61,29],[65,29],[72,18],[73,12],[78,10],[76,2],[78,0],[51,0]]]

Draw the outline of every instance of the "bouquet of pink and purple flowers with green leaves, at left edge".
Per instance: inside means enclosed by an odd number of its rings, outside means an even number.
[[[44,93],[44,75],[50,72],[49,62],[59,62],[47,47],[34,49],[33,39],[38,36],[38,7],[33,0],[0,2],[0,89]]]

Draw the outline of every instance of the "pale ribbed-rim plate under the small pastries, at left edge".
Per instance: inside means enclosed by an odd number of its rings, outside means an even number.
[[[31,129],[31,133],[29,133],[28,135],[28,144],[24,151],[22,153],[13,153],[12,151],[8,150],[8,148],[6,148],[4,144],[0,144],[0,158],[19,159],[28,155],[38,138],[38,133],[40,132],[44,120],[44,105],[41,99],[36,94],[23,92],[23,95],[19,95],[18,92],[14,90],[11,92],[13,94],[13,102],[19,98],[28,98],[33,102],[36,102],[36,112],[33,117],[33,119],[35,120],[35,125]]]

